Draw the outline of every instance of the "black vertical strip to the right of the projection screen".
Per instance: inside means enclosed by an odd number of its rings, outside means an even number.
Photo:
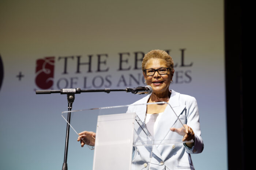
[[[229,170],[253,166],[254,28],[252,1],[225,0],[225,76]],[[248,75],[248,76],[247,76]],[[250,120],[250,121],[249,121]],[[251,130],[252,129],[252,130]],[[249,141],[249,137],[250,141]],[[251,155],[248,157],[248,149]]]

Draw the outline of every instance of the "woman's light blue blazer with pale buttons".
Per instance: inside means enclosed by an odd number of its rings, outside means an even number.
[[[138,100],[133,104],[147,103],[150,95]],[[201,130],[199,124],[199,113],[196,99],[189,95],[183,95],[172,90],[169,104],[180,118],[182,124],[190,126],[195,133],[195,145],[192,149],[179,144],[167,144],[167,145],[154,145],[153,155],[151,160],[148,160],[150,155],[150,149],[145,146],[136,147],[134,150],[134,157],[132,160],[132,169],[135,170],[194,170],[194,166],[191,160],[190,154],[201,153],[204,148],[203,140],[201,138]],[[140,120],[143,123],[145,120],[147,107],[133,106],[128,107],[127,112],[136,112]],[[157,130],[154,135],[155,140],[170,139],[170,127],[176,122],[177,117],[170,109],[166,107],[163,115],[161,116]],[[151,164],[149,164],[151,162]]]

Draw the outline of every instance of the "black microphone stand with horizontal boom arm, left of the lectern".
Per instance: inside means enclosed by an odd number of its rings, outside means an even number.
[[[67,94],[68,111],[71,111],[72,104],[75,100],[75,94],[80,94],[81,92],[106,92],[106,93],[110,93],[110,91],[132,92],[132,88],[112,89],[112,90],[110,90],[110,88],[98,89],[98,90],[81,90],[80,88],[63,88],[61,90],[36,90],[35,94],[52,94],[52,93]],[[67,129],[66,129],[64,163],[63,163],[63,166],[62,166],[62,170],[68,170],[67,158],[68,158],[68,140],[69,140],[70,117],[71,117],[71,112],[68,112],[68,118],[67,118],[68,123],[67,123]]]

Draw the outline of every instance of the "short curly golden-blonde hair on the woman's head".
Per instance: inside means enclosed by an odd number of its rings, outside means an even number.
[[[163,59],[166,62],[167,67],[171,69],[171,72],[173,71],[173,59],[167,52],[163,50],[151,50],[148,52],[142,60],[143,71],[146,69],[147,62],[150,59]]]

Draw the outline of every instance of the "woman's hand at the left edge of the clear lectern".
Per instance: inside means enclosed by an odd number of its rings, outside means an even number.
[[[83,147],[85,144],[94,146],[95,145],[95,138],[96,138],[96,133],[94,132],[89,132],[89,131],[83,131],[78,134],[79,137],[77,141],[80,141],[81,147]]]

